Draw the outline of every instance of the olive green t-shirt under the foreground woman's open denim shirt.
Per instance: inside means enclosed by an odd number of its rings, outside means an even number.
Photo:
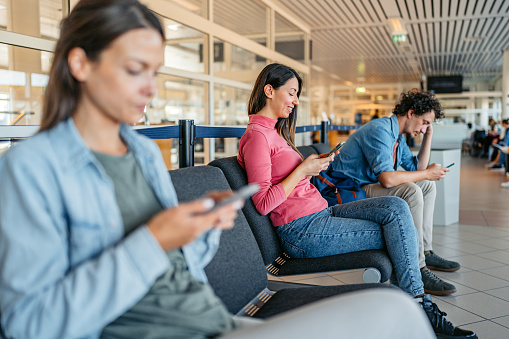
[[[131,152],[94,155],[113,182],[126,234],[163,209]],[[168,271],[136,305],[104,328],[102,338],[210,338],[233,329],[231,314],[208,284],[191,275],[182,251],[167,255]]]

